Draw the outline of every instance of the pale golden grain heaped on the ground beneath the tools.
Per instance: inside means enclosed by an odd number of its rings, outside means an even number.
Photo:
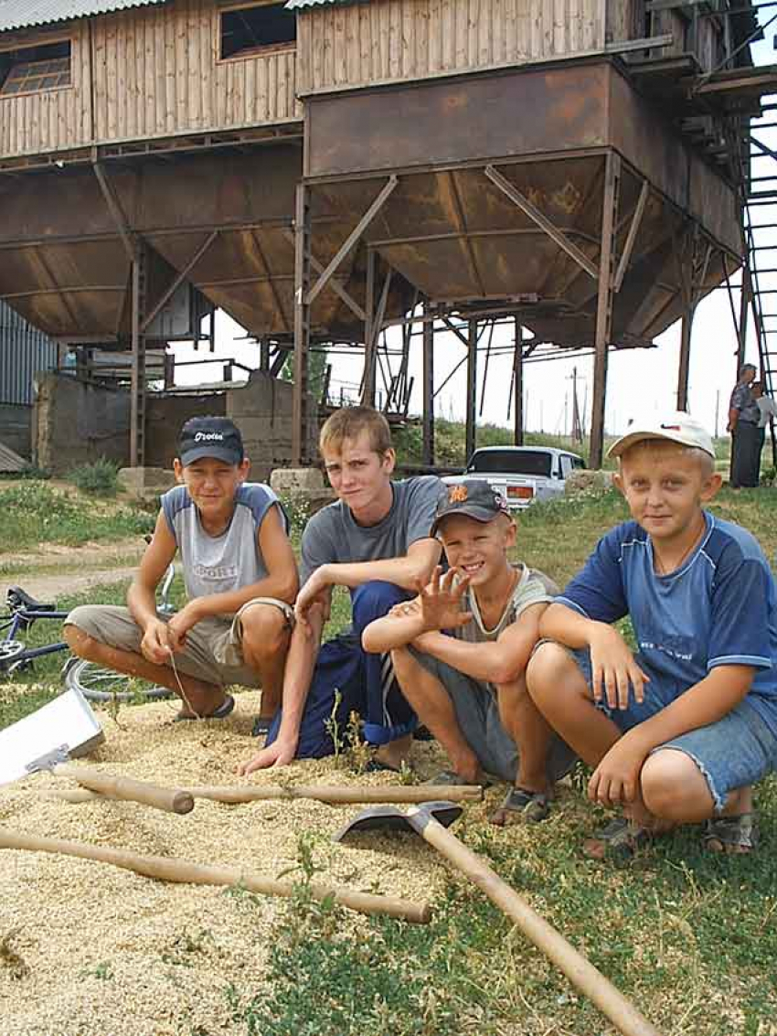
[[[258,695],[243,693],[228,720],[207,723],[173,723],[169,702],[123,709],[119,725],[100,714],[107,741],[88,765],[166,785],[242,783],[235,768],[258,747],[250,737],[257,704]],[[414,760],[423,777],[441,761],[418,744]],[[252,780],[278,783],[280,776],[296,783],[392,783],[392,775],[356,777],[330,759]],[[70,805],[37,795],[73,786],[40,774],[0,789],[0,825],[270,876],[294,865],[297,837],[311,832],[324,867],[317,881],[432,902],[444,882],[444,864],[420,839],[333,844],[333,833],[358,806],[198,800],[192,813],[177,816],[133,803]],[[166,885],[64,856],[0,851],[0,1036],[242,1032],[227,989],[261,990],[268,936],[285,909],[281,899]],[[345,923],[355,936],[366,922],[349,913]]]

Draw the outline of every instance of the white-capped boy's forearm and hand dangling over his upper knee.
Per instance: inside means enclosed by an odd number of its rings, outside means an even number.
[[[586,618],[564,604],[551,604],[540,621],[540,635],[568,648],[591,650],[591,683],[595,701],[610,709],[628,709],[631,688],[636,701],[644,700],[650,682],[614,626]]]

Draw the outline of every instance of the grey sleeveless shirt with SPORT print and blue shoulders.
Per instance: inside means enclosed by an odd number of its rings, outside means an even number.
[[[235,493],[229,525],[221,536],[210,536],[202,527],[200,513],[185,486],[165,493],[162,510],[180,551],[190,599],[231,593],[267,575],[258,533],[271,507],[281,506],[269,486],[244,482]],[[286,516],[283,511],[281,514],[285,523]]]

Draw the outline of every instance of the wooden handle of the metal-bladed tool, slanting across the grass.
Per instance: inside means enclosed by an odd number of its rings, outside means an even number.
[[[610,1019],[624,1036],[660,1036],[659,1031],[618,992],[609,979],[529,906],[484,860],[466,847],[428,812],[408,810],[413,828],[512,918],[570,982]]]

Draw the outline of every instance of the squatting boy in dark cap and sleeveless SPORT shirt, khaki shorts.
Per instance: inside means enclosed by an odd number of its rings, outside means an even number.
[[[246,481],[249,467],[231,421],[188,421],[174,461],[179,485],[162,497],[127,606],[84,605],[65,620],[77,655],[182,697],[178,719],[228,716],[232,684],[261,686],[262,719],[280,703],[296,563],[278,497]],[[168,621],[155,591],[176,551],[188,602]]]

